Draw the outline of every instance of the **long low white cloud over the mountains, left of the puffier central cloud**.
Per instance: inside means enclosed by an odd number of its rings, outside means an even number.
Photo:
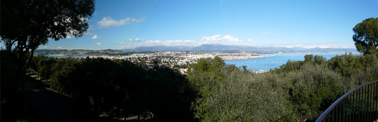
[[[169,41],[146,41],[139,44],[132,44],[127,46],[121,46],[121,48],[136,48],[141,46],[158,46],[158,45],[165,45],[165,46],[178,46],[178,45],[190,45],[190,44],[197,44],[197,41],[194,40],[169,40]]]

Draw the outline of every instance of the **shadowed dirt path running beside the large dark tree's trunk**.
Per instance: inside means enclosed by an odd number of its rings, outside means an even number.
[[[84,121],[72,99],[46,89],[29,75],[26,77],[27,112],[35,122]]]

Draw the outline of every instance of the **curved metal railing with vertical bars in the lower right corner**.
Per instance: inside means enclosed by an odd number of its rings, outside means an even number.
[[[316,122],[374,122],[377,119],[378,80],[345,93]]]

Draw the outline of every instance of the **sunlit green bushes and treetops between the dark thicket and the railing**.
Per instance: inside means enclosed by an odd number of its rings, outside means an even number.
[[[253,74],[201,59],[187,77],[198,95],[192,104],[195,117],[203,122],[315,120],[344,93],[378,79],[376,54],[326,60],[306,55],[305,61],[289,60],[282,69]],[[214,72],[211,66],[223,68]]]

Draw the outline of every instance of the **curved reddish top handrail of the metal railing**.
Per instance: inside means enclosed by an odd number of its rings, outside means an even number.
[[[320,115],[319,118],[316,119],[315,122],[321,122],[321,121],[325,118],[325,116],[326,116],[328,113],[330,113],[330,111],[331,111],[333,108],[335,108],[337,104],[339,104],[339,102],[340,102],[342,99],[344,99],[345,97],[347,97],[348,95],[350,95],[352,92],[356,91],[357,89],[359,89],[359,88],[361,88],[361,87],[364,87],[364,86],[366,86],[366,85],[368,85],[368,84],[371,84],[371,83],[374,83],[374,82],[377,82],[377,81],[378,81],[378,80],[371,81],[371,82],[369,82],[369,83],[365,83],[365,84],[363,84],[363,85],[361,85],[361,86],[358,86],[358,87],[356,87],[356,88],[350,90],[349,92],[345,93],[345,94],[342,95],[339,99],[337,99],[335,102],[333,102],[333,104],[332,104],[330,107],[328,107],[327,110],[325,110],[325,111],[322,113],[322,115]]]

